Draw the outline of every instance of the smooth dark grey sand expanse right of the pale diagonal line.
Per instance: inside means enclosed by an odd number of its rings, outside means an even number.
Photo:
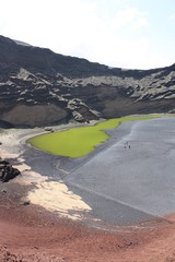
[[[131,127],[120,141],[117,134]],[[116,138],[116,142],[115,142]],[[67,179],[94,214],[118,225],[175,211],[175,118],[121,124],[113,144]],[[126,146],[129,142],[129,146]]]

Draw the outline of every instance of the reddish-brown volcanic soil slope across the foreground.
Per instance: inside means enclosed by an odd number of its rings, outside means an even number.
[[[0,262],[175,261],[173,221],[115,233],[94,229],[36,205],[21,205],[26,189],[0,183]]]

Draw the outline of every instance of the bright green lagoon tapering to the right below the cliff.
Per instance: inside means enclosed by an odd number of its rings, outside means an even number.
[[[95,150],[96,145],[108,139],[109,135],[104,131],[105,129],[115,129],[126,121],[147,120],[158,117],[159,115],[114,118],[92,127],[72,128],[42,134],[30,139],[27,143],[55,155],[81,157],[90,154]]]

